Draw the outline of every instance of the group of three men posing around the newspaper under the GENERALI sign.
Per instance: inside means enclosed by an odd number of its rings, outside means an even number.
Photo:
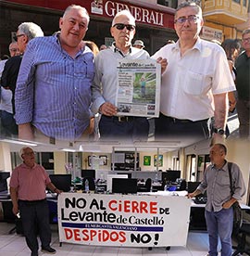
[[[151,57],[162,71],[156,140],[175,135],[207,138],[212,117],[213,136],[224,135],[227,94],[235,85],[223,49],[200,39],[203,23],[200,6],[181,4],[174,24],[179,41]],[[19,138],[81,139],[89,131],[92,112],[99,112],[101,138],[147,139],[148,120],[119,118],[115,106],[117,61],[150,58],[144,49],[131,46],[134,17],[128,10],[115,16],[110,28],[115,42],[95,59],[82,43],[88,24],[85,8],[69,6],[59,21],[60,32],[27,45],[15,93]],[[23,36],[17,32],[18,42]]]

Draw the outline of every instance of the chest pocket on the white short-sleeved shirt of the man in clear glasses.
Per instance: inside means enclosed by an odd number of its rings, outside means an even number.
[[[199,96],[206,91],[206,75],[189,70],[183,79],[183,90],[186,94]]]

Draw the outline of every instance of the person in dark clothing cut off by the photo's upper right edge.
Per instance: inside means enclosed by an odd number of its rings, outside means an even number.
[[[242,46],[244,52],[236,59],[236,87],[238,101],[236,105],[240,122],[239,132],[243,138],[250,134],[250,28],[244,30]]]

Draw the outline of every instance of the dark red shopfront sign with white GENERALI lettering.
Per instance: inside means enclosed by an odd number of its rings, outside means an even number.
[[[151,9],[143,6],[131,5],[130,3],[109,0],[9,0],[6,2],[17,3],[28,6],[39,6],[49,9],[65,10],[74,4],[85,7],[91,17],[103,17],[113,19],[123,9],[128,9],[136,19],[137,23],[147,24],[161,28],[174,28],[174,16],[164,11]],[[45,11],[45,10],[44,10]]]

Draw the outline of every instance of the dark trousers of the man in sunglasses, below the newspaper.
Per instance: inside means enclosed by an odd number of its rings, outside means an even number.
[[[107,117],[102,115],[99,122],[100,138],[104,140],[146,141],[149,122],[144,117]]]

